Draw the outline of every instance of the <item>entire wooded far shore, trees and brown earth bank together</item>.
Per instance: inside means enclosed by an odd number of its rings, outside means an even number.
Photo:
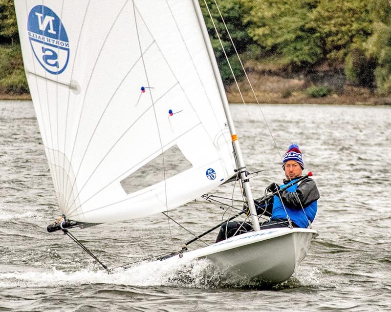
[[[229,103],[242,103],[199,1]],[[213,0],[244,101],[256,103]],[[259,103],[391,105],[391,0],[224,0],[219,9]],[[31,100],[14,5],[0,1],[0,100]]]

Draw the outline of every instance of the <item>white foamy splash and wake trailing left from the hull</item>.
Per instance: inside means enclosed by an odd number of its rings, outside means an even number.
[[[147,262],[110,275],[104,270],[97,271],[93,268],[66,272],[55,267],[49,271],[0,273],[0,287],[23,288],[111,284],[211,289],[240,286],[243,283],[244,281],[238,276],[221,270],[206,259],[181,261],[181,263]]]

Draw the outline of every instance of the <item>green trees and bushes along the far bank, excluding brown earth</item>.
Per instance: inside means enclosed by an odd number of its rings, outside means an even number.
[[[391,94],[389,0],[216,0],[235,46],[255,70],[305,73],[345,65],[348,81]],[[243,72],[215,5],[206,0],[235,76]],[[199,0],[225,85],[233,77]],[[0,92],[28,90],[12,0],[0,0]],[[322,87],[314,87],[322,88]],[[315,89],[313,89],[315,90]],[[311,94],[322,94],[319,90]],[[289,97],[287,90],[282,96]],[[325,90],[323,92],[326,92]],[[312,95],[311,95],[312,96]]]

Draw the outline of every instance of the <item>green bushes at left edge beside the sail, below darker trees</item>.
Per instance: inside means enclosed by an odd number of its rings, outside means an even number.
[[[0,45],[0,93],[28,93],[19,45]]]

